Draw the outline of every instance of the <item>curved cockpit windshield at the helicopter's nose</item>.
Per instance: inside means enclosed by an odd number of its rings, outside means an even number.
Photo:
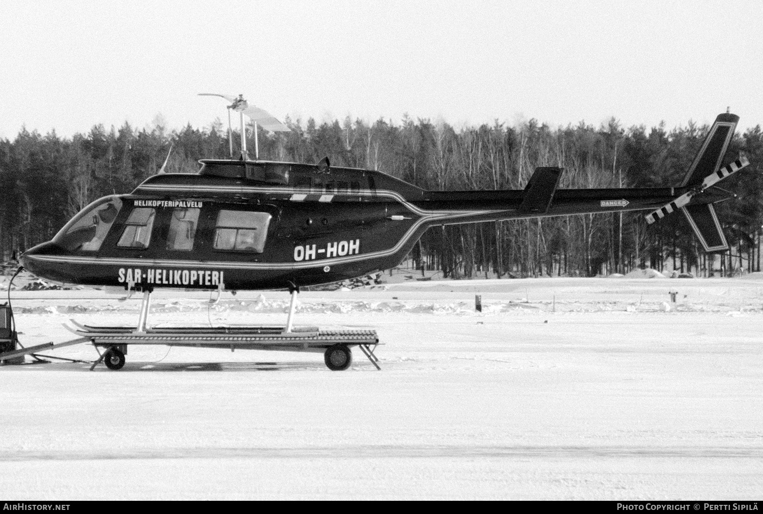
[[[97,252],[121,208],[122,201],[118,196],[100,198],[69,220],[53,241],[69,252]]]

